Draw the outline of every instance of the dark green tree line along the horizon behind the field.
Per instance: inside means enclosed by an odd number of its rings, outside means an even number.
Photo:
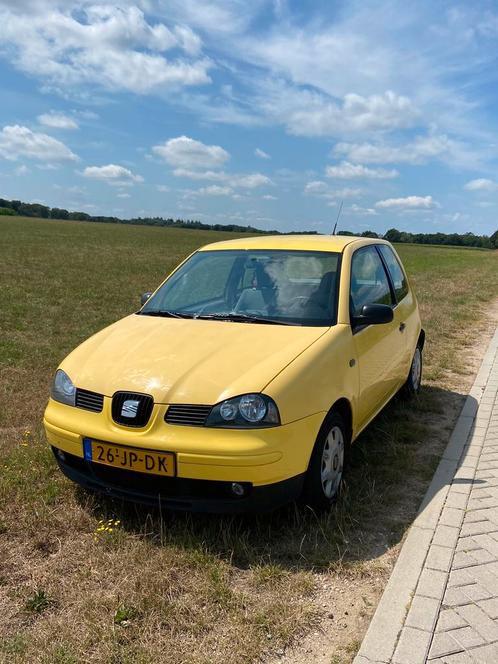
[[[197,230],[228,231],[233,233],[264,233],[280,235],[277,230],[262,230],[254,226],[241,226],[239,224],[206,224],[193,219],[173,219],[171,217],[133,217],[121,219],[92,215],[86,212],[74,212],[59,207],[49,207],[41,203],[24,203],[18,200],[0,198],[0,215],[19,215],[23,217],[41,217],[42,219],[60,219],[73,221],[91,221],[106,224],[131,224],[136,226],[166,226],[176,228],[191,228]],[[292,231],[285,235],[318,235],[317,231]],[[341,230],[338,235],[358,235],[348,230]],[[410,242],[415,244],[444,244],[456,247],[480,247],[483,249],[498,249],[498,230],[492,235],[475,235],[474,233],[408,233],[390,228],[383,236],[374,231],[363,231],[362,237],[381,238],[389,242]]]

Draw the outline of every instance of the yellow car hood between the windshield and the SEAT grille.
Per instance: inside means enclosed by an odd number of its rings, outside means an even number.
[[[62,363],[76,387],[156,403],[214,404],[260,392],[328,328],[133,314],[90,337]]]

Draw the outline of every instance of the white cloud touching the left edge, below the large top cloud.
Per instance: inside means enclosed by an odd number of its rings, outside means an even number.
[[[59,161],[77,161],[78,157],[56,138],[31,131],[21,125],[7,125],[0,132],[0,156],[16,160],[20,157],[40,159],[47,164]]]

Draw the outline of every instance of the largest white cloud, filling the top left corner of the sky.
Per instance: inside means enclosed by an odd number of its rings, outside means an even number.
[[[186,26],[152,25],[136,6],[40,2],[23,12],[4,5],[0,22],[13,64],[56,91],[97,85],[145,94],[210,82],[210,61],[193,57],[199,37]],[[192,59],[167,59],[171,49]]]

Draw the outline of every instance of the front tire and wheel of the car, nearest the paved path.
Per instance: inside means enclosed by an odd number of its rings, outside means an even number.
[[[325,419],[304,480],[301,502],[316,511],[330,509],[342,485],[349,438],[343,418],[332,412]]]

